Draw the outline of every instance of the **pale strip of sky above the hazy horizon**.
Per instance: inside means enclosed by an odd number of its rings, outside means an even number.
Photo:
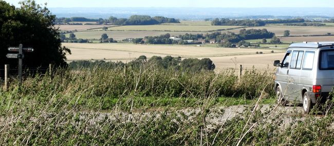
[[[14,6],[21,0],[5,0]],[[266,8],[266,7],[334,7],[333,0],[35,0],[48,8],[75,7],[194,7],[194,8]]]

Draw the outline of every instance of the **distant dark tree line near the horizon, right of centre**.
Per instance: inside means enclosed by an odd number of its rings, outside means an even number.
[[[283,24],[283,23],[304,23],[305,19],[273,19],[273,20],[261,20],[261,19],[229,19],[229,18],[215,18],[212,20],[213,26],[265,26],[266,24]]]

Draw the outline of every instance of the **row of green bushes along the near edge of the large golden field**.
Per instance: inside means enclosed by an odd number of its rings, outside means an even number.
[[[214,70],[215,64],[210,58],[184,58],[181,57],[172,57],[172,56],[152,56],[150,59],[147,59],[146,56],[141,55],[138,58],[124,63],[122,61],[118,62],[106,62],[103,60],[78,60],[72,61],[69,63],[69,67],[73,70],[82,69],[82,68],[116,68],[116,67],[132,67],[132,68],[140,68],[141,65],[155,65],[158,68],[162,69],[173,69],[180,71],[201,71],[201,70]]]

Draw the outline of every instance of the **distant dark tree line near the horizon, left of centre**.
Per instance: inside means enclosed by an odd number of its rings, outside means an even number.
[[[127,18],[116,18],[110,16],[108,19],[89,19],[85,17],[71,17],[71,18],[55,18],[56,24],[68,24],[70,22],[97,22],[97,24],[110,24],[110,25],[157,25],[163,23],[180,23],[178,19],[168,18],[163,16],[151,17],[148,15],[132,15]],[[82,25],[78,23],[78,25]]]

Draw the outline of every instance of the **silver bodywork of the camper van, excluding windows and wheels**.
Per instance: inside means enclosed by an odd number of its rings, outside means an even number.
[[[291,44],[286,52],[303,53],[301,68],[278,67],[275,73],[275,87],[281,87],[283,98],[290,101],[303,101],[303,93],[312,92],[313,85],[321,86],[321,92],[332,92],[334,87],[334,69],[320,69],[320,52],[322,50],[334,50],[334,42],[295,43]],[[305,52],[314,52],[312,69],[304,69]],[[313,54],[313,53],[311,53]],[[284,56],[283,56],[284,57]],[[292,57],[288,62],[291,62]],[[312,61],[308,61],[312,62]],[[296,68],[296,69],[295,69]],[[314,100],[315,101],[315,100]]]

